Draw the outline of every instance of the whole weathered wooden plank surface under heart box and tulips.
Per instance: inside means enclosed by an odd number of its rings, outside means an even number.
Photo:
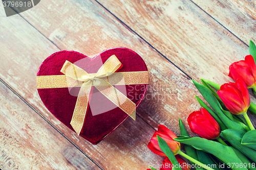
[[[232,81],[228,66],[249,54],[250,39],[256,42],[253,0],[44,0],[10,17],[0,4],[2,170],[146,169],[148,163],[161,164],[163,157],[147,143],[159,124],[179,135],[180,117],[188,128],[188,114],[200,109],[194,95],[201,97],[191,79]],[[127,119],[93,145],[42,104],[36,72],[57,51],[93,55],[115,46],[144,59],[150,86],[136,122]]]

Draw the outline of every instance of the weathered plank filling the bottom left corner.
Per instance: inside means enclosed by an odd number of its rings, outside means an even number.
[[[0,82],[0,167],[100,169]]]

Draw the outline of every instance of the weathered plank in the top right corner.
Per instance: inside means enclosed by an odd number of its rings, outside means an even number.
[[[249,45],[256,42],[256,1],[193,0],[225,28]]]

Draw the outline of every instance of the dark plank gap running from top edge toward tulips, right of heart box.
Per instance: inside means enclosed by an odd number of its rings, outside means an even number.
[[[163,55],[160,51],[157,50],[156,47],[154,47],[153,45],[151,45],[149,42],[147,42],[142,36],[140,36],[138,33],[136,33],[132,28],[130,28],[129,26],[126,25],[126,23],[124,23],[121,19],[119,19],[116,15],[114,15],[112,12],[110,12],[110,10],[106,9],[102,4],[100,4],[97,0],[94,0],[95,2],[97,2],[102,8],[104,8],[106,11],[108,11],[111,15],[113,15],[119,22],[122,23],[122,25],[124,25],[128,30],[130,30],[131,32],[133,32],[134,34],[136,34],[138,37],[140,37],[140,39],[142,39],[144,42],[146,42],[148,45],[150,45],[150,47],[152,47],[156,52],[158,52],[162,57],[164,57],[167,61],[169,61],[170,63],[172,63],[175,67],[177,67],[181,72],[183,72],[184,75],[186,75],[188,80],[192,80],[192,78],[190,76],[188,76],[188,74],[186,74],[185,71],[183,71],[180,67],[178,67],[176,64],[174,64],[174,62],[170,61],[165,55]]]

